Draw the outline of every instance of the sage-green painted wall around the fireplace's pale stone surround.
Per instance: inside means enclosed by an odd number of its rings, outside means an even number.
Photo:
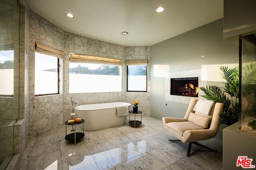
[[[188,104],[165,100],[166,73],[206,68],[207,85],[222,86],[219,66],[238,66],[238,62],[238,46],[223,39],[223,19],[152,45],[151,117],[184,117],[186,113]]]

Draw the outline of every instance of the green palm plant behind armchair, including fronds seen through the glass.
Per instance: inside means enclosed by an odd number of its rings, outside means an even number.
[[[224,104],[223,111],[220,113],[220,124],[232,125],[238,121],[239,117],[239,68],[228,68],[220,66],[222,78],[225,80],[224,88],[211,85],[200,87],[204,92],[202,97],[214,102]],[[242,96],[254,93],[256,90],[256,63],[248,63],[242,67]],[[253,122],[253,121],[251,121]]]

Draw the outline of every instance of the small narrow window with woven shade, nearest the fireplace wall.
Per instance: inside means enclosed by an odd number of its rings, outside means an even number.
[[[147,60],[126,60],[127,91],[147,91]]]

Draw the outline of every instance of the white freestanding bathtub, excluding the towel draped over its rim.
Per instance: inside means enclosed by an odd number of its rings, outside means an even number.
[[[88,104],[75,107],[76,117],[84,119],[84,130],[95,131],[108,127],[123,125],[127,116],[117,117],[116,106],[130,103],[114,102],[102,104]]]

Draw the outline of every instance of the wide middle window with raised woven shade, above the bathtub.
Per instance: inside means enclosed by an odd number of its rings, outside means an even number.
[[[69,93],[121,92],[120,59],[70,54]]]

